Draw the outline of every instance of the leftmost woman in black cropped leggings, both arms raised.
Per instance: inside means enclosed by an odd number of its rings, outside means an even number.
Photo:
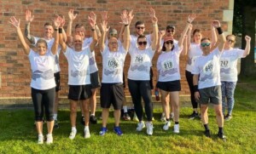
[[[55,42],[52,45],[51,52],[47,52],[47,43],[44,39],[39,39],[36,44],[36,50],[33,50],[26,44],[22,32],[20,31],[20,20],[11,17],[10,24],[15,26],[20,43],[24,53],[28,55],[32,69],[32,101],[35,110],[35,121],[38,130],[38,144],[44,143],[43,135],[43,117],[47,121],[47,144],[53,143],[52,131],[54,127],[53,109],[55,102],[55,77],[54,65],[55,54],[57,53],[59,37],[55,35]],[[55,19],[55,30],[61,25],[60,17]]]

